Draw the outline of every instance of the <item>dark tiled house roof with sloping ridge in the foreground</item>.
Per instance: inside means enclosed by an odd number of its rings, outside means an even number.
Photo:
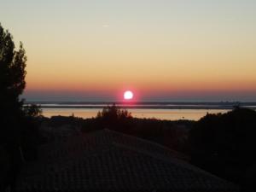
[[[109,130],[49,143],[16,191],[237,191],[158,144]]]

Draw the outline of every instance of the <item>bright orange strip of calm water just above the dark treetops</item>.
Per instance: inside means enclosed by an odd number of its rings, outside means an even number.
[[[96,117],[96,113],[101,108],[44,108],[43,114],[46,117],[54,115],[70,116],[74,114],[77,117],[91,118]],[[230,109],[162,109],[162,108],[130,108],[128,109],[133,117],[137,118],[156,118],[156,119],[193,119],[198,120],[207,113],[226,113]]]

